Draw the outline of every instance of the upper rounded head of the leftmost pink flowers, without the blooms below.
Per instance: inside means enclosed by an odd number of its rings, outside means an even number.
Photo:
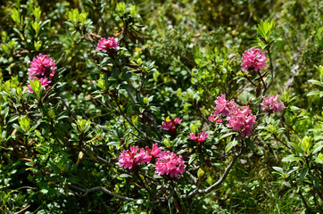
[[[46,76],[52,78],[55,73],[56,63],[48,55],[39,53],[36,58],[30,62],[29,73],[32,75]]]

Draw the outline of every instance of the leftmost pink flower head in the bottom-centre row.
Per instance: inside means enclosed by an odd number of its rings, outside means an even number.
[[[124,167],[124,169],[136,169],[138,165],[141,163],[150,162],[151,157],[145,149],[140,149],[140,152],[137,153],[139,150],[138,146],[130,146],[130,151],[122,151],[119,157],[119,165],[120,167]]]

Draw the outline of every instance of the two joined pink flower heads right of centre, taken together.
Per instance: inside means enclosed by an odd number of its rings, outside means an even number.
[[[227,117],[228,128],[241,132],[241,136],[252,135],[256,120],[249,106],[239,107],[234,100],[227,101],[226,95],[218,96],[214,103],[216,106],[209,117],[210,121],[221,123],[221,118]]]

